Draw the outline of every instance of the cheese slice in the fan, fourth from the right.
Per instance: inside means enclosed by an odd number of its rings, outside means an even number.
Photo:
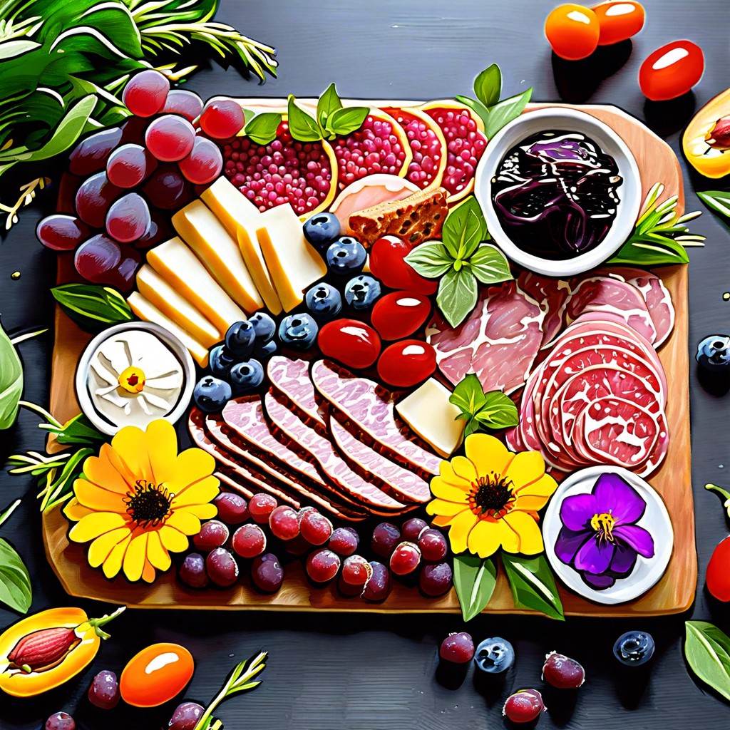
[[[185,297],[219,332],[245,320],[245,312],[215,282],[198,257],[177,237],[147,252],[147,264]]]

